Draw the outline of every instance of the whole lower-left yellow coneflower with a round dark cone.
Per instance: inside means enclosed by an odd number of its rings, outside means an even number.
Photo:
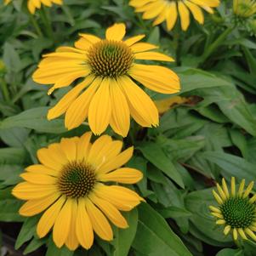
[[[88,249],[94,232],[111,241],[113,232],[107,219],[120,228],[128,223],[119,210],[130,211],[143,200],[137,193],[110,182],[134,184],[142,174],[134,168],[121,168],[133,155],[133,147],[122,151],[122,142],[103,135],[93,144],[92,133],[61,139],[37,151],[41,164],[20,174],[25,182],[14,187],[13,195],[27,202],[23,216],[43,213],[37,235],[46,236],[53,228],[54,243],[75,250]],[[107,182],[107,185],[104,183]]]

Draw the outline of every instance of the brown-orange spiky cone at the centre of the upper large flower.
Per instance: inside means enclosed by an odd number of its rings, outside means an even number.
[[[134,61],[131,49],[122,42],[103,40],[88,50],[88,64],[96,76],[117,78],[125,75]]]

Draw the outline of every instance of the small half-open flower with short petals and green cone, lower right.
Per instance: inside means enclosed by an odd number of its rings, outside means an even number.
[[[213,191],[213,196],[219,203],[219,207],[210,206],[212,214],[218,220],[217,225],[225,225],[224,234],[228,235],[230,231],[234,240],[238,236],[247,239],[250,236],[256,241],[256,195],[250,197],[253,189],[253,181],[244,190],[245,179],[242,179],[238,191],[236,191],[236,180],[231,178],[230,191],[226,185],[225,179],[222,179],[222,186],[217,184],[217,191]]]

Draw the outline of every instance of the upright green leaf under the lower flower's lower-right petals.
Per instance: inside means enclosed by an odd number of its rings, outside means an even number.
[[[127,256],[129,249],[134,241],[134,236],[137,230],[138,224],[138,211],[135,208],[130,213],[123,214],[125,219],[128,221],[128,229],[117,229],[115,232],[115,239],[113,241],[113,245],[115,247],[115,251],[113,256]]]

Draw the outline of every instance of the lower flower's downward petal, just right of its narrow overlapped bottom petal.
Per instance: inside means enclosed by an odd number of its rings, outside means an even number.
[[[82,247],[88,249],[94,243],[94,231],[85,208],[85,199],[78,200],[76,234]]]

